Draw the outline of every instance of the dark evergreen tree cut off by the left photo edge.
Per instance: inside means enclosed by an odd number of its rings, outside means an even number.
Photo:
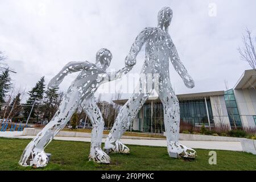
[[[5,69],[0,75],[0,104],[5,103],[6,93],[11,89],[9,69]]]

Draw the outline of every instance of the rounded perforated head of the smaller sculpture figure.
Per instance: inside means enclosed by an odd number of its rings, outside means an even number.
[[[100,64],[99,66],[103,69],[107,69],[112,60],[112,53],[109,49],[102,48],[96,53],[96,64]]]

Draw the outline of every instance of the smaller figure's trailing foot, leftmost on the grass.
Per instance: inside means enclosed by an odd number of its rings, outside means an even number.
[[[47,155],[43,150],[35,152],[34,148],[35,144],[31,141],[20,158],[19,164],[21,166],[33,166],[36,168],[47,166],[50,155]]]

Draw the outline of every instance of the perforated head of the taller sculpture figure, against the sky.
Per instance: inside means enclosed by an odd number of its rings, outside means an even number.
[[[170,7],[163,7],[158,13],[158,27],[168,31],[168,27],[172,20],[172,9]]]

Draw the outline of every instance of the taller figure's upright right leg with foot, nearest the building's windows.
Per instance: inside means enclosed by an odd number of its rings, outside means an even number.
[[[180,106],[170,81],[160,83],[159,97],[164,109],[164,126],[166,129],[168,154],[172,158],[178,156],[195,158],[196,151],[179,144]]]

